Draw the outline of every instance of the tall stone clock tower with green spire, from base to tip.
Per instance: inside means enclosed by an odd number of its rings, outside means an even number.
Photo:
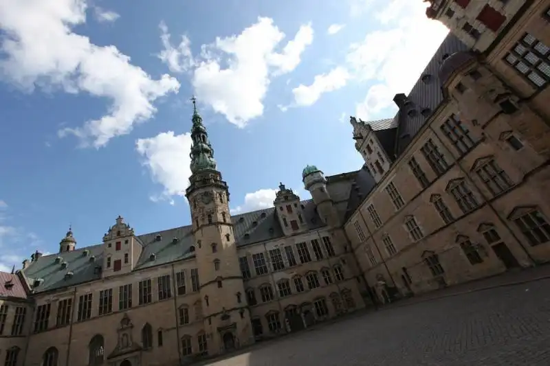
[[[214,354],[254,342],[243,277],[229,213],[228,185],[214,160],[208,133],[193,97],[190,185],[195,255],[201,282],[204,329]]]

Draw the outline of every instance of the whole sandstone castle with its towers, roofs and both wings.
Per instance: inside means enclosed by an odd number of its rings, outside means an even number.
[[[194,108],[191,225],[33,253],[0,273],[0,365],[180,365],[347,312],[550,260],[550,1],[431,0],[451,33],[364,166],[303,170],[231,215]]]

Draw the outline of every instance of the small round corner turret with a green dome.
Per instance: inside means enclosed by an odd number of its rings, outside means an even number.
[[[309,191],[311,198],[314,199],[317,213],[322,222],[325,222],[329,227],[340,226],[338,211],[327,191],[325,174],[318,170],[315,165],[307,165],[302,172],[302,181],[305,189]]]

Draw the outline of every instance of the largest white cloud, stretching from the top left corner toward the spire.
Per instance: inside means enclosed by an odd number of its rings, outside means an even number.
[[[150,119],[153,102],[177,92],[179,82],[168,75],[153,80],[115,46],[94,45],[74,33],[85,23],[86,9],[85,0],[0,0],[0,76],[29,92],[61,89],[109,100],[106,115],[58,133],[100,147]]]

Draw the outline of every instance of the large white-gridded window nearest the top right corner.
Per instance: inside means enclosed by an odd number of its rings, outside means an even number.
[[[550,82],[550,47],[532,34],[526,33],[505,57],[506,62],[518,71],[536,89]]]

